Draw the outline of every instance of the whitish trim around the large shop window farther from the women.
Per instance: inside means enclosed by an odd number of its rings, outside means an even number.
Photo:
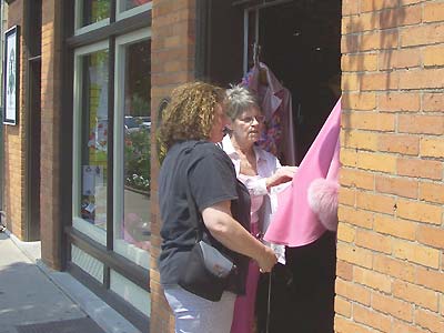
[[[74,84],[73,84],[73,131],[72,131],[72,226],[84,233],[94,241],[105,245],[107,232],[103,229],[92,225],[78,215],[80,212],[80,181],[81,181],[81,107],[82,107],[82,80],[83,72],[81,57],[97,51],[108,50],[109,41],[104,40],[91,46],[79,48],[74,51]]]

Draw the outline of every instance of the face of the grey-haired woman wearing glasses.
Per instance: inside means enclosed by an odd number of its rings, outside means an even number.
[[[256,107],[252,107],[232,121],[232,135],[239,143],[253,144],[261,137],[263,122],[264,115]]]

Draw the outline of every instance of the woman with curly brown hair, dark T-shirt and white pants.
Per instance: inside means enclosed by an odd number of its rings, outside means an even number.
[[[229,333],[236,294],[245,291],[249,258],[264,272],[276,262],[274,252],[250,234],[249,192],[236,181],[230,158],[214,144],[222,140],[228,121],[224,90],[194,82],[173,91],[160,129],[161,154],[165,157],[159,175],[163,221],[159,271],[175,316],[175,332]],[[189,195],[195,202],[198,220],[203,221],[202,239],[236,266],[219,302],[178,284],[196,241]]]

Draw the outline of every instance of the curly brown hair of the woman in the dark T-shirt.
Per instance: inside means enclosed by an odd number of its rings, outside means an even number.
[[[223,101],[224,90],[213,84],[198,81],[175,88],[159,130],[161,160],[179,141],[208,140],[215,105]]]

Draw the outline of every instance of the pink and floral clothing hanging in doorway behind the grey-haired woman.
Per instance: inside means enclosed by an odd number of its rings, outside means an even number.
[[[259,144],[278,157],[285,165],[295,165],[292,98],[273,72],[262,62],[254,65],[243,78],[256,98],[265,115],[265,129]]]

